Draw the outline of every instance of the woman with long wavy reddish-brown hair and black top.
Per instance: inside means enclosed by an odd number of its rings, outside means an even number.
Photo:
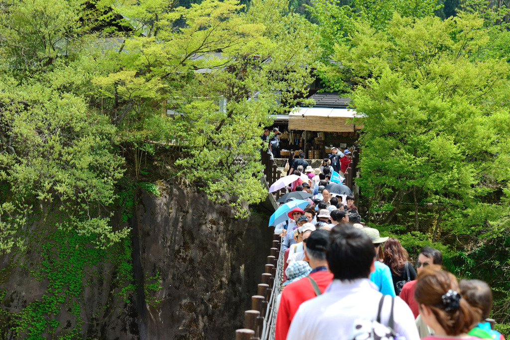
[[[395,294],[398,296],[406,282],[416,279],[416,272],[409,262],[409,254],[398,239],[390,237],[384,244],[384,264],[390,267]]]

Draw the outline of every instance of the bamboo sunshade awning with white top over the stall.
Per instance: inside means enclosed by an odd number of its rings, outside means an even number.
[[[355,126],[350,118],[356,116],[352,109],[296,107],[289,114],[289,130],[354,132],[363,126]],[[347,120],[349,122],[347,122]]]

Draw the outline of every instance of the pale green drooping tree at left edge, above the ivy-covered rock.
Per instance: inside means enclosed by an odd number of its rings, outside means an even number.
[[[3,78],[0,88],[0,181],[9,187],[0,200],[0,249],[19,245],[17,232],[51,207],[69,218],[63,227],[101,235],[100,245],[123,236],[104,210],[123,173],[111,153],[113,126],[82,98],[40,83]]]

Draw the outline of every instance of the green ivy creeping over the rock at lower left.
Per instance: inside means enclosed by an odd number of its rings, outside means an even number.
[[[17,337],[30,340],[45,339],[47,336],[54,339],[81,337],[81,325],[91,321],[83,319],[91,308],[84,301],[84,289],[90,285],[94,289],[97,280],[105,279],[103,276],[109,267],[115,270],[111,276],[116,287],[110,299],[129,302],[129,295],[134,290],[134,285],[130,283],[133,277],[130,241],[125,239],[108,249],[101,249],[93,246],[94,237],[54,227],[39,228],[31,236],[30,251],[36,252],[41,261],[18,265],[30,273],[32,280],[46,284],[46,290],[19,313],[0,311],[3,321],[9,321]],[[21,250],[18,252],[23,254]],[[0,277],[5,275],[9,275],[9,272],[4,271]],[[3,302],[6,296],[5,292],[0,296]],[[111,301],[113,305],[115,303]],[[57,318],[65,312],[68,313],[69,323],[61,325]]]

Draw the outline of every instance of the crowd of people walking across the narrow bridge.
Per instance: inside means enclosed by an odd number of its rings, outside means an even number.
[[[361,222],[353,196],[324,191],[275,228],[285,263],[276,340],[504,339],[486,321],[486,283],[457,282],[430,247],[413,265],[398,239]]]

